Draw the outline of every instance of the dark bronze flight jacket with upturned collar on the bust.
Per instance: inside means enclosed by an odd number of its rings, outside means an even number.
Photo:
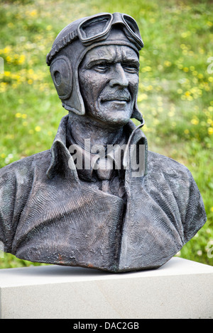
[[[165,264],[206,222],[200,191],[182,164],[147,149],[144,171],[125,171],[126,201],[80,179],[66,147],[68,115],[51,149],[0,170],[0,241],[20,259],[111,272]],[[129,135],[136,126],[126,125]],[[72,167],[70,167],[72,164]]]

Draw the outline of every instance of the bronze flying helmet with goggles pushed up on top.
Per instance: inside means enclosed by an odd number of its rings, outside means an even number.
[[[46,61],[62,106],[67,111],[84,115],[78,67],[89,50],[101,45],[126,45],[138,54],[143,41],[136,21],[122,13],[99,13],[70,23],[55,38]],[[132,118],[143,121],[137,103]]]

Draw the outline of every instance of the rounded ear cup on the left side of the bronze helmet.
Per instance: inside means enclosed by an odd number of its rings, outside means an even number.
[[[72,68],[70,60],[64,55],[56,57],[50,65],[50,74],[59,98],[61,100],[69,98],[72,92]]]

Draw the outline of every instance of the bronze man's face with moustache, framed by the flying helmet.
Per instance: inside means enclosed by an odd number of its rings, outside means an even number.
[[[138,93],[138,69],[131,47],[104,45],[87,52],[79,68],[86,114],[109,127],[128,123]]]

